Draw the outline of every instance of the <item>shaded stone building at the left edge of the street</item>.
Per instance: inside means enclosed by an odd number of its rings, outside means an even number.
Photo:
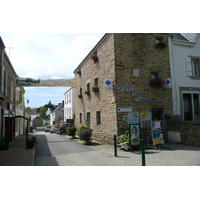
[[[15,137],[15,101],[16,101],[16,77],[17,74],[5,52],[5,45],[0,37],[0,141],[4,136],[10,142]]]

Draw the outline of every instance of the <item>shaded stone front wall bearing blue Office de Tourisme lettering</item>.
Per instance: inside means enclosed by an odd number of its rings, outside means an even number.
[[[157,49],[156,37],[162,37],[163,42],[167,44],[170,36],[147,33],[115,34],[117,107],[132,107],[134,112],[151,112],[152,108],[162,108],[163,116],[172,115],[172,90],[166,89],[165,86],[156,88],[149,85],[151,72],[158,73],[162,80],[171,76],[168,47]],[[133,70],[139,73],[137,77],[133,75]],[[135,88],[135,91],[122,91],[123,87]],[[136,96],[133,96],[133,93]],[[140,102],[135,98],[151,98],[152,101]],[[121,119],[122,115],[126,114],[117,113],[118,134],[124,133]]]

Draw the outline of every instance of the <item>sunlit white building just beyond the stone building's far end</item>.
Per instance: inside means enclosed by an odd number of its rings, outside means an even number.
[[[64,121],[74,119],[75,116],[75,94],[76,88],[71,87],[64,93]]]

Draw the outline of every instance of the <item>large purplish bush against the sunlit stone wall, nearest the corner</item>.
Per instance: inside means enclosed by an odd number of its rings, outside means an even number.
[[[81,141],[85,141],[86,144],[92,143],[92,129],[89,126],[82,125],[79,128],[79,138]]]

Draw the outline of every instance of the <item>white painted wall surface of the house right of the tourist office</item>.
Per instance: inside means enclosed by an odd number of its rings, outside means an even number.
[[[173,93],[173,114],[181,115],[180,87],[186,87],[188,91],[194,88],[200,89],[200,78],[194,79],[188,76],[188,58],[200,59],[200,34],[197,34],[195,42],[178,42],[169,39],[170,65]]]

